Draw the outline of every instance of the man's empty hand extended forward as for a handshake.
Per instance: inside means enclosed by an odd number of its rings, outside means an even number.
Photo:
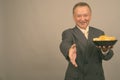
[[[77,63],[76,63],[76,57],[77,57],[77,53],[76,53],[76,44],[73,44],[71,46],[71,48],[69,49],[69,58],[70,58],[70,61],[71,63],[77,67]]]

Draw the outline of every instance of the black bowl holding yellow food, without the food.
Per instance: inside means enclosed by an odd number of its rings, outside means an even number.
[[[93,43],[96,46],[113,46],[113,45],[115,45],[116,42],[117,42],[117,40],[112,40],[112,41],[93,41]]]

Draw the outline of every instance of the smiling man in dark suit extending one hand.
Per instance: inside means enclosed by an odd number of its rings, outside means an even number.
[[[104,32],[89,26],[91,8],[85,2],[73,7],[74,28],[62,33],[60,50],[68,60],[65,80],[105,80],[102,60],[113,56],[111,46],[94,45],[93,38],[104,35]]]

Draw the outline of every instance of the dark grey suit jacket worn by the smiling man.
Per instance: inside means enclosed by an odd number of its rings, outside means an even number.
[[[65,80],[105,80],[102,60],[109,60],[113,56],[113,51],[110,50],[107,55],[103,55],[92,42],[93,38],[103,34],[103,31],[93,27],[89,27],[88,39],[77,27],[63,32],[60,50],[69,62]],[[72,65],[68,57],[68,50],[74,43],[77,47],[77,68]]]

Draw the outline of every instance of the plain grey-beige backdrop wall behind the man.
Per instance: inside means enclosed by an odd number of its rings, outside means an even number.
[[[72,7],[86,1],[91,26],[120,40],[120,0],[0,0],[0,80],[63,80],[61,33],[73,27]],[[120,79],[120,42],[104,61],[106,80]]]

